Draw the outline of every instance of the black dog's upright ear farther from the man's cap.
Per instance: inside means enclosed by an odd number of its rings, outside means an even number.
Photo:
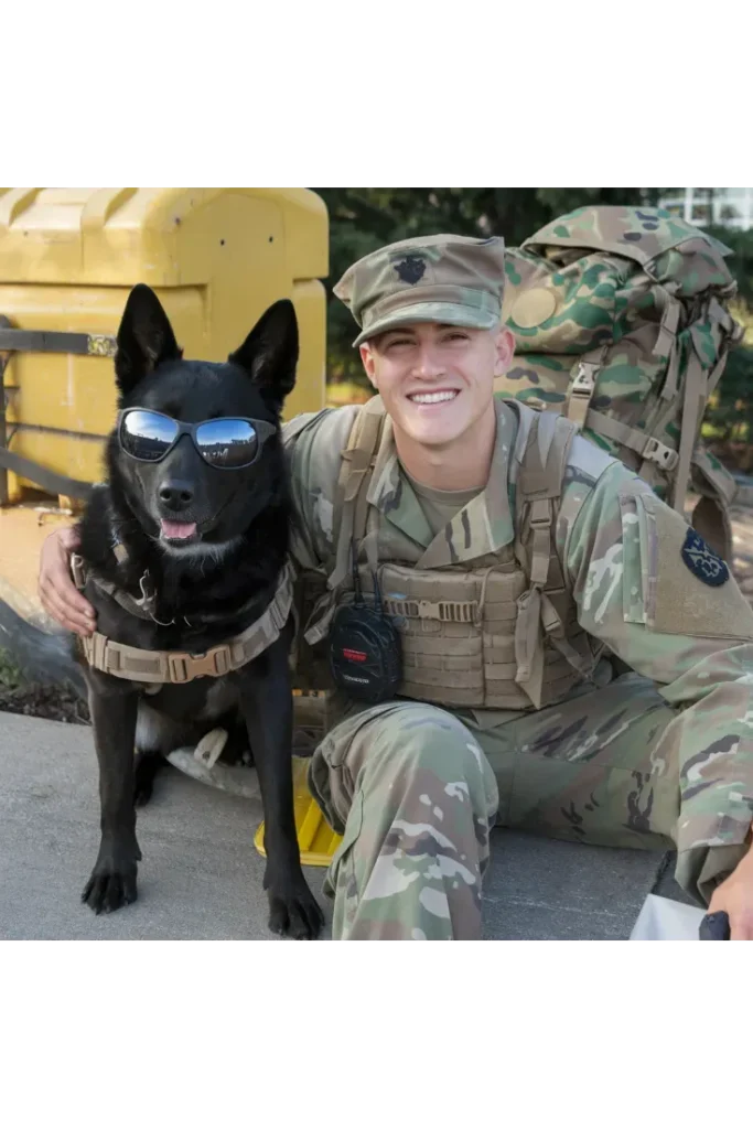
[[[155,291],[143,283],[131,290],[117,331],[115,377],[128,395],[137,384],[166,360],[181,360],[173,326]]]

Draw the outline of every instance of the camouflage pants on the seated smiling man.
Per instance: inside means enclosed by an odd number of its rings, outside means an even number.
[[[676,711],[625,674],[537,714],[410,701],[351,707],[309,787],[343,835],[325,879],[339,943],[478,943],[490,831],[662,850],[702,901],[744,848],[699,846],[683,819]]]

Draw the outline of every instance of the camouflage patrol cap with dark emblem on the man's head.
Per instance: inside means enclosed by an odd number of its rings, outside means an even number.
[[[505,240],[430,235],[389,244],[359,259],[334,288],[361,333],[411,322],[438,322],[491,330],[502,316]]]

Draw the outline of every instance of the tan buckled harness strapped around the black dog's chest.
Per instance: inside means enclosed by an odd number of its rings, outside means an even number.
[[[115,557],[122,561],[128,553],[116,543]],[[71,572],[79,592],[84,592],[90,579],[103,592],[117,601],[121,607],[140,619],[160,621],[155,618],[157,593],[147,570],[139,581],[141,598],[135,599],[110,580],[89,572],[78,553],[71,555]],[[240,634],[212,647],[203,655],[192,655],[184,650],[141,650],[108,639],[98,631],[90,638],[81,638],[84,653],[90,666],[117,679],[143,683],[175,683],[183,685],[194,679],[219,679],[231,671],[239,671],[257,658],[280,637],[292,609],[295,574],[292,564],[286,561],[280,572],[274,597],[266,611]],[[240,609],[243,611],[243,609]],[[187,622],[187,621],[186,621]],[[161,624],[167,627],[168,624]]]

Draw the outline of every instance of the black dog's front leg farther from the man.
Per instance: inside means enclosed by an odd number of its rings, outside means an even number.
[[[99,764],[102,841],[81,901],[95,913],[112,913],[137,899],[133,771],[138,695],[128,690],[107,692],[95,675],[89,682],[89,712]]]

